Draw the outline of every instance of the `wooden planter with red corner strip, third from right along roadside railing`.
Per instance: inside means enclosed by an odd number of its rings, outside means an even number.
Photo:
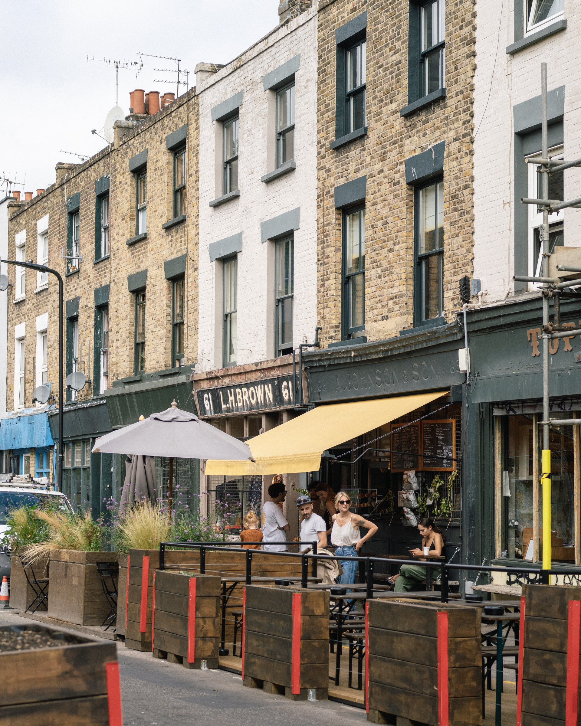
[[[245,586],[243,684],[304,701],[328,698],[329,593]]]

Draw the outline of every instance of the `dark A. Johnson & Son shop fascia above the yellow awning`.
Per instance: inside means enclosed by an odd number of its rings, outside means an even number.
[[[308,370],[310,400],[362,399],[389,394],[419,393],[460,386],[466,372],[460,370],[458,350],[423,351],[405,358],[382,358],[370,363],[344,364]]]

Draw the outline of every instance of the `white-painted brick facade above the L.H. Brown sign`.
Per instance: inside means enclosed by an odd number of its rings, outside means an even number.
[[[267,99],[262,76],[301,54],[296,73],[296,170],[264,184],[267,174]],[[216,123],[211,108],[244,90],[239,121],[240,197],[217,208],[208,203],[215,194]],[[300,229],[294,234],[294,347],[303,336],[314,338],[317,284],[317,13],[314,9],[278,28],[197,89],[200,96],[200,266],[197,370],[211,370],[216,359],[215,317],[222,300],[214,299],[215,262],[210,262],[211,242],[243,232],[238,255],[237,364],[272,357],[267,350],[267,246],[260,237],[261,221],[296,207],[301,208]],[[218,348],[222,346],[218,341]]]

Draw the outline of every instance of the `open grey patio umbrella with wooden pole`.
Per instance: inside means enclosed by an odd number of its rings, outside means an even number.
[[[153,413],[149,418],[101,436],[95,441],[93,453],[169,457],[170,513],[174,457],[253,461],[247,444],[200,421],[194,414],[182,411],[176,401],[165,411]]]

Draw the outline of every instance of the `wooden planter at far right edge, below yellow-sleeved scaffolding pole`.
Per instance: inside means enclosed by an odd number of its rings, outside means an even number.
[[[566,703],[581,713],[579,623],[581,587],[523,585],[519,698],[522,726],[565,725]],[[569,602],[572,605],[569,605]],[[576,620],[576,623],[575,623]],[[521,624],[523,613],[521,608]],[[577,635],[575,635],[575,631]],[[572,673],[577,669],[577,680]],[[577,719],[574,720],[577,723]]]

